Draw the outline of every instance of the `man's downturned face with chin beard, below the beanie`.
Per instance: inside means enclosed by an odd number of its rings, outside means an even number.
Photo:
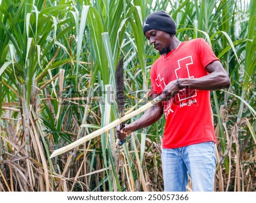
[[[148,30],[145,32],[146,38],[150,44],[162,55],[170,52],[172,37],[168,32],[160,30]]]

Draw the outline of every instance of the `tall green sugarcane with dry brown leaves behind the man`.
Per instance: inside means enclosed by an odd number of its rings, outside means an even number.
[[[118,118],[120,56],[126,111],[147,101],[150,67],[159,55],[147,45],[142,22],[162,9],[174,17],[177,38],[212,45],[232,82],[211,94],[215,190],[255,190],[256,2],[153,2],[2,0],[0,191],[163,191],[164,118],[128,136],[122,148],[112,129],[49,159]]]

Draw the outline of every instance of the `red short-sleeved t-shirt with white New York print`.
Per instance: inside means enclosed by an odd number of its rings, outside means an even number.
[[[174,53],[168,53],[164,59]],[[150,94],[162,94],[165,86],[177,78],[199,78],[209,74],[205,67],[217,59],[204,39],[181,42],[168,60],[163,55],[151,68]],[[191,144],[216,142],[210,106],[210,91],[186,87],[171,100],[163,102],[166,126],[163,148],[184,147]]]

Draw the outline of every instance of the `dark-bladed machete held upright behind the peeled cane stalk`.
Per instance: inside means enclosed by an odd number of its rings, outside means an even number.
[[[115,88],[117,89],[116,98],[117,98],[117,110],[119,118],[122,118],[125,115],[125,97],[123,90],[123,56],[119,59],[117,63],[117,68],[115,69]],[[119,129],[121,130],[125,127],[125,122],[120,123]],[[124,140],[119,140],[118,145],[122,146],[123,143],[126,142],[126,138]]]

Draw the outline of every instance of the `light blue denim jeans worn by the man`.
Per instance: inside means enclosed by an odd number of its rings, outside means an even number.
[[[164,191],[187,191],[188,174],[193,191],[213,191],[216,171],[215,143],[162,150]]]

